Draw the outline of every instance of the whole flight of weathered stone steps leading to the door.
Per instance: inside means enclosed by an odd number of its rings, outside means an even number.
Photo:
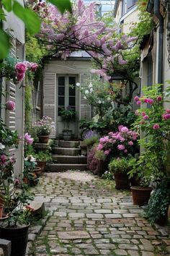
[[[86,147],[83,142],[54,140],[52,152],[53,163],[48,166],[49,171],[86,171]]]

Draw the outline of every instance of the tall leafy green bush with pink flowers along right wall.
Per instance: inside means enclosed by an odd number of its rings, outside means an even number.
[[[136,112],[138,118],[133,124],[134,129],[141,130],[145,135],[140,140],[143,148],[140,155],[141,168],[144,178],[152,180],[156,189],[161,186],[162,180],[169,180],[170,177],[170,109],[164,109],[164,102],[169,102],[167,97],[170,89],[162,93],[161,87],[153,85],[144,88],[144,96],[134,98],[137,104],[143,103],[142,108]]]

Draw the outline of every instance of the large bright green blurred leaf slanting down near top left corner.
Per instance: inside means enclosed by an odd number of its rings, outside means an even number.
[[[35,12],[27,8],[24,9],[17,1],[14,1],[13,12],[24,22],[30,35],[35,35],[40,31],[40,18]]]

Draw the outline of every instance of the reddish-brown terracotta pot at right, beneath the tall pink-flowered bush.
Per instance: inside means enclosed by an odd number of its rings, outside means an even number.
[[[151,196],[151,187],[130,187],[133,196],[133,205],[148,205],[148,200]]]

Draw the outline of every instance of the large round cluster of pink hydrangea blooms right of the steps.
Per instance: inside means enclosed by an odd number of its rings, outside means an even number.
[[[105,155],[112,153],[113,156],[133,154],[138,133],[123,125],[120,125],[118,129],[118,132],[109,132],[107,136],[102,137],[97,150],[103,150]]]

